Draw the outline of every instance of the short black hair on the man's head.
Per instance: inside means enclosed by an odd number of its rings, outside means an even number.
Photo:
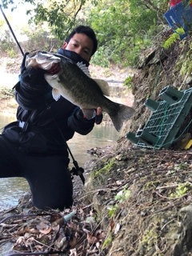
[[[86,34],[86,36],[88,36],[94,42],[94,48],[91,56],[94,55],[95,51],[98,49],[98,39],[96,38],[94,30],[92,30],[90,26],[77,26],[66,38],[67,43],[70,42],[70,39],[73,38],[74,34]]]

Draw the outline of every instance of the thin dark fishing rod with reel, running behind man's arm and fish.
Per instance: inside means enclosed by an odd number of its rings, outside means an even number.
[[[8,25],[9,28],[10,28],[10,32],[12,33],[15,42],[17,42],[17,44],[18,44],[18,48],[21,50],[22,56],[24,56],[24,53],[23,53],[23,51],[22,51],[22,47],[20,46],[20,44],[19,44],[19,42],[18,42],[18,39],[16,38],[16,36],[15,36],[15,34],[14,34],[14,31],[12,30],[12,28],[11,28],[11,26],[10,26],[10,22],[9,22],[8,19],[6,18],[6,14],[4,14],[4,12],[3,12],[3,10],[2,10],[2,5],[1,5],[1,4],[0,4],[0,9],[1,9],[1,11],[2,11],[3,17],[4,17],[5,20],[6,20],[7,25]],[[56,122],[55,119],[54,119],[54,122]],[[58,124],[57,124],[57,126],[58,126]],[[58,129],[60,130],[59,127],[58,127]],[[62,134],[62,131],[61,131],[61,130],[60,130],[60,132],[61,132],[61,134]],[[63,134],[62,134],[62,135],[63,135]],[[69,147],[68,144],[66,143],[66,138],[64,138],[64,136],[62,136],[62,138],[63,138],[63,140],[64,140],[64,142],[65,142],[65,144],[66,144],[66,148],[67,148],[67,150],[69,151],[70,157],[72,158],[73,164],[74,164],[74,167],[72,168],[72,170],[70,171],[70,173],[73,174],[73,175],[77,175],[77,176],[79,175],[79,177],[80,177],[81,180],[82,180],[82,183],[85,184],[85,178],[84,178],[83,175],[82,175],[83,172],[84,172],[84,170],[83,170],[82,167],[79,167],[79,166],[78,166],[78,162],[75,161],[74,156],[73,156],[72,152],[70,151],[70,147]]]

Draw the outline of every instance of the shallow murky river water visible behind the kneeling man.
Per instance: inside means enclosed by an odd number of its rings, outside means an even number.
[[[0,128],[13,121],[15,121],[14,115],[0,114]],[[74,138],[68,142],[68,146],[70,146],[78,166],[84,168],[85,163],[93,158],[91,154],[87,153],[87,150],[95,147],[113,146],[117,139],[118,132],[114,129],[114,126],[99,125],[95,126],[94,130],[86,136],[75,134]],[[72,167],[71,163],[70,167]],[[30,191],[30,188],[24,178],[0,178],[0,210],[16,206],[18,198],[21,198],[22,194],[27,191]]]

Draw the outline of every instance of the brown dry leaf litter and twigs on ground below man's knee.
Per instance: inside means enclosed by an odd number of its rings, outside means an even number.
[[[76,214],[72,213],[74,216],[68,222],[63,217],[72,210],[50,210],[35,218],[34,214],[20,214],[18,218],[11,215],[0,222],[0,234],[3,240],[14,242],[13,250],[21,253],[55,251],[68,252],[70,256],[100,255],[105,234],[95,221],[93,211],[86,213],[81,207],[73,210]]]

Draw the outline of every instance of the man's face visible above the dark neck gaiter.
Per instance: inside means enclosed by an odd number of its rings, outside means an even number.
[[[79,54],[87,62],[90,62],[90,56],[94,48],[94,42],[86,34],[74,34],[70,42],[64,42],[63,49],[72,50]]]

